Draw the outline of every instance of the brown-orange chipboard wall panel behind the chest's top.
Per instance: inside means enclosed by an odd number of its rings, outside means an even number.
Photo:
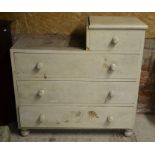
[[[149,29],[146,38],[155,38],[155,13],[116,12],[116,13],[0,13],[0,19],[12,20],[13,33],[48,34],[59,33],[67,35],[83,35],[86,18],[90,15],[99,16],[136,16]]]

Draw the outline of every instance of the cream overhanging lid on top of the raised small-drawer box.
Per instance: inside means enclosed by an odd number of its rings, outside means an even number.
[[[136,17],[89,16],[89,29],[147,29],[148,26]]]

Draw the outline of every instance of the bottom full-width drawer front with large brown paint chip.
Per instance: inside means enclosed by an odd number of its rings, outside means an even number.
[[[20,106],[21,127],[132,128],[132,107]]]

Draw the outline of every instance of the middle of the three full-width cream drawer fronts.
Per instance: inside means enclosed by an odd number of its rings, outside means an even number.
[[[136,82],[17,81],[20,104],[123,104],[137,101]]]

